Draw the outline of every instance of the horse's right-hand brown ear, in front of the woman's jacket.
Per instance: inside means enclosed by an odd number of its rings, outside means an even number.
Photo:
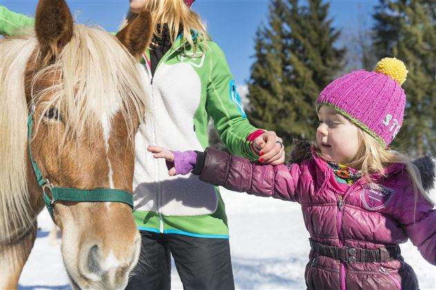
[[[153,35],[153,21],[149,10],[140,12],[126,27],[117,33],[117,39],[129,50],[135,59],[140,59],[149,46]]]

